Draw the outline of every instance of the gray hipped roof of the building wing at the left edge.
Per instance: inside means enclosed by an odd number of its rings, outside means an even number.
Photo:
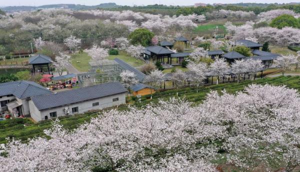
[[[12,94],[19,99],[50,93],[46,88],[31,81],[13,81],[0,84],[0,96]]]

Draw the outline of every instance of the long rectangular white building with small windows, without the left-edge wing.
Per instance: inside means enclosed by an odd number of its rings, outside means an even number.
[[[125,104],[127,90],[119,82],[109,82],[69,91],[33,96],[30,116],[35,121],[84,113]]]

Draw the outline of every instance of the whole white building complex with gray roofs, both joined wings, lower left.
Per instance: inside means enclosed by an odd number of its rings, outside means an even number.
[[[58,93],[30,81],[7,82],[0,84],[0,112],[41,121],[125,104],[126,93],[119,82]]]

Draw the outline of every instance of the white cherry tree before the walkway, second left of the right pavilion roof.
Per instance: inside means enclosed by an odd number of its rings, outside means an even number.
[[[207,65],[205,63],[193,63],[189,62],[187,65],[189,70],[188,72],[188,80],[191,81],[197,87],[197,93],[199,90],[199,86],[203,84],[204,79],[206,79],[205,74],[207,71]]]

